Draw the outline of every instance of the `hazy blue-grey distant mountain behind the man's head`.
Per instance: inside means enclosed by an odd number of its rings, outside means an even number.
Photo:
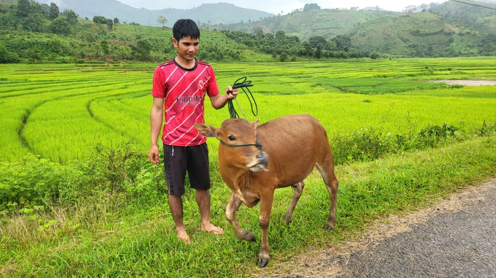
[[[0,0],[10,1],[12,0]],[[235,23],[240,20],[257,20],[260,17],[274,16],[271,13],[246,9],[228,3],[202,4],[192,9],[162,9],[149,10],[145,8],[134,8],[117,0],[37,0],[40,3],[50,4],[57,2],[61,11],[71,9],[82,17],[93,18],[95,15],[101,15],[108,18],[119,18],[121,22],[135,22],[141,25],[162,26],[157,23],[157,17],[165,16],[168,19],[166,26],[172,27],[176,20],[180,18],[191,18],[196,22],[207,24],[227,24]],[[17,0],[14,0],[17,3]]]

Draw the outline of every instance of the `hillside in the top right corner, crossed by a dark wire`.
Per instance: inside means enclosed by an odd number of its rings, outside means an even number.
[[[496,8],[495,1],[473,1],[464,2]],[[432,12],[444,17],[451,18],[459,24],[486,34],[496,35],[496,10],[460,2],[448,1],[431,9]]]

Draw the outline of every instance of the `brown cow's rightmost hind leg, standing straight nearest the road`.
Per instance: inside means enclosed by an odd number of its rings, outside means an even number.
[[[323,157],[321,161],[317,163],[317,169],[322,175],[324,184],[329,192],[329,218],[327,219],[327,224],[325,226],[326,230],[333,230],[334,224],[336,224],[336,198],[338,194],[338,180],[334,175],[334,163],[332,159],[332,154],[329,152]]]

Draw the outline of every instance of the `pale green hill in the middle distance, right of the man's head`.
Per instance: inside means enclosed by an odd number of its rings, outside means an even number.
[[[288,36],[297,36],[308,40],[312,36],[322,36],[326,39],[344,34],[357,25],[374,18],[395,14],[388,11],[363,11],[342,9],[316,9],[310,11],[294,11],[287,15],[268,17],[251,22],[235,24],[210,25],[210,29],[241,31],[256,33],[276,33],[282,30]]]

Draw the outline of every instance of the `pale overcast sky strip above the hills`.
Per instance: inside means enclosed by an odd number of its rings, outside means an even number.
[[[120,0],[121,2],[128,4],[136,8],[147,8],[147,9],[164,9],[164,8],[179,8],[179,9],[189,9],[197,7],[202,3],[217,3],[217,1],[210,0],[189,0],[183,1],[171,1],[171,0]],[[346,0],[346,1],[336,1],[336,0],[220,0],[221,2],[228,2],[235,4],[239,7],[257,9],[261,11],[270,12],[273,14],[280,13],[283,14],[291,12],[293,9],[303,8],[305,3],[317,3],[322,8],[350,8],[359,7],[365,8],[375,5],[379,7],[390,10],[390,11],[401,11],[407,5],[420,5],[422,3],[429,4],[430,2],[444,2],[445,0]]]

